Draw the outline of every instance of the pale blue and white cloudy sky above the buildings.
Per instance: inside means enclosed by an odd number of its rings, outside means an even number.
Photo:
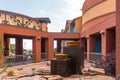
[[[81,16],[85,0],[0,0],[0,9],[30,17],[49,17],[49,32],[60,32],[66,20]]]

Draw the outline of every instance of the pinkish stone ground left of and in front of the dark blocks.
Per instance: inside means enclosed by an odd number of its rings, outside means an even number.
[[[8,68],[14,70],[15,76],[7,77],[6,72],[0,74],[0,80],[15,80],[16,77],[23,76],[26,74],[31,74],[33,69],[37,72],[47,72],[50,73],[50,62],[44,61],[40,63],[31,63],[27,65],[20,65],[15,67]],[[2,69],[1,69],[2,70]],[[1,71],[0,70],[0,71]],[[4,77],[4,79],[2,79]],[[43,78],[44,77],[44,78]],[[45,77],[49,79],[45,79]],[[59,78],[59,79],[57,79]],[[70,77],[61,77],[59,75],[34,75],[34,76],[25,76],[18,78],[17,80],[115,80],[114,77],[105,76],[105,75],[71,75]]]

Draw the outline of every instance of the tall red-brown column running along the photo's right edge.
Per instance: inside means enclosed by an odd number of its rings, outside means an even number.
[[[116,76],[120,74],[120,0],[116,0]]]

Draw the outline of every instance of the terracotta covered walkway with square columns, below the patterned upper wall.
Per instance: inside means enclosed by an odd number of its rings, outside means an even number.
[[[54,57],[54,40],[79,40],[80,34],[75,33],[50,33],[37,30],[31,30],[21,27],[14,27],[8,25],[0,25],[0,35],[4,41],[9,38],[16,38],[16,54],[23,55],[23,39],[31,39],[33,41],[33,55],[35,55],[35,62],[41,61],[41,58],[50,60]],[[19,40],[19,41],[18,41]],[[9,44],[9,43],[8,43]],[[43,54],[42,54],[43,53]],[[45,53],[45,54],[44,54]]]

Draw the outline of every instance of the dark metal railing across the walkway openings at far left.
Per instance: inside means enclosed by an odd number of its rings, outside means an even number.
[[[14,57],[5,56],[6,65],[19,65],[32,63],[35,60],[35,55],[16,55]]]

